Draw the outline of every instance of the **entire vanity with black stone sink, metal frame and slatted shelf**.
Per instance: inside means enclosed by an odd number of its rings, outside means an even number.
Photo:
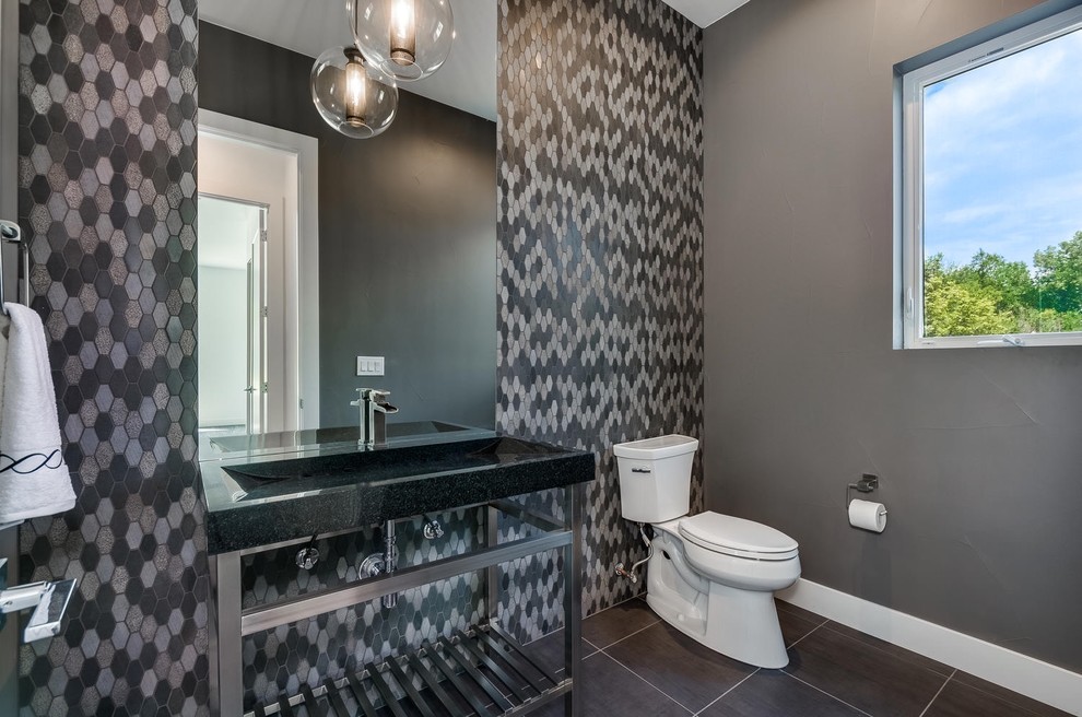
[[[525,714],[565,695],[566,714],[579,717],[583,714],[581,690],[575,690],[573,685],[580,682],[577,678],[581,666],[583,493],[585,484],[595,478],[595,467],[596,458],[591,454],[506,436],[375,451],[275,457],[251,463],[211,461],[201,465],[201,485],[208,501],[208,552],[211,553],[215,593],[211,631],[216,644],[211,654],[215,683],[213,714],[222,717],[244,714],[461,717],[477,714],[480,717]],[[225,479],[231,475],[230,480],[240,493],[225,490]],[[514,499],[553,490],[557,493],[542,503],[554,501],[560,506],[554,509],[561,515],[558,518]],[[313,503],[309,498],[318,499]],[[456,543],[449,552],[439,553],[444,555],[440,557],[421,560],[405,567],[396,564],[396,522],[451,509],[479,510],[477,540]],[[220,518],[221,530],[216,533],[211,530],[214,517]],[[502,540],[501,520],[519,525],[521,530],[514,529]],[[244,607],[244,555],[299,546],[309,542],[311,536],[344,534],[372,525],[383,526],[385,545],[377,557],[383,557],[385,565],[391,565],[390,569],[380,568],[373,574],[371,566],[362,569],[362,562],[355,566],[356,578],[350,581]],[[232,527],[226,529],[227,526]],[[211,540],[212,534],[217,536],[216,541]],[[558,554],[563,588],[563,666],[566,672],[560,681],[544,672],[530,674],[528,669],[524,673],[514,663],[501,662],[503,657],[515,656],[524,667],[530,667],[528,661],[522,661],[528,659],[524,657],[522,648],[494,627],[501,624],[497,614],[502,604],[504,568],[501,566],[550,553]],[[422,645],[413,658],[402,658],[404,661],[388,661],[378,668],[365,665],[360,674],[353,674],[352,681],[346,678],[333,683],[324,682],[316,689],[301,687],[299,694],[262,705],[261,712],[245,710],[242,654],[245,637],[339,610],[353,610],[374,600],[379,600],[386,608],[384,598],[388,596],[478,573],[481,575],[480,592],[473,595],[478,604],[483,606],[483,618],[474,619],[474,622],[484,621],[486,626],[456,633],[456,639]],[[390,602],[393,604],[395,600]],[[455,618],[456,621],[459,619],[460,615]],[[466,624],[455,627],[464,631]],[[501,645],[503,651],[493,651],[496,648],[492,642]],[[471,645],[477,649],[471,649]],[[468,657],[458,659],[463,656]],[[483,656],[492,658],[504,674],[487,665]],[[472,663],[471,659],[474,660]],[[419,665],[427,670],[432,680],[425,680],[425,672],[417,669]],[[397,679],[397,670],[407,667],[414,672],[405,682],[415,678],[416,684],[421,685],[416,689],[426,690],[421,703],[398,702],[411,697],[405,683]],[[483,677],[475,679],[474,673]],[[364,686],[364,680],[369,681],[369,687]],[[392,689],[388,680],[398,686]],[[518,684],[521,680],[525,681]],[[364,694],[366,689],[371,691],[367,695]],[[393,698],[385,698],[381,689],[391,691]],[[352,707],[346,703],[350,695]],[[371,704],[373,695],[377,695],[377,704],[384,704],[378,713]]]

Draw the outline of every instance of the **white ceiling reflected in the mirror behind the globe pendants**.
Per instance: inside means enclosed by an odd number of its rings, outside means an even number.
[[[400,90],[496,119],[496,1],[450,0],[455,45],[439,71]],[[344,0],[199,0],[199,19],[316,58],[353,35]]]

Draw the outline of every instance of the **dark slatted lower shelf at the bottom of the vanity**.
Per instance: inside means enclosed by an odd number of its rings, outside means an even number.
[[[524,715],[571,689],[571,678],[557,678],[498,627],[481,625],[316,689],[305,685],[247,717]]]

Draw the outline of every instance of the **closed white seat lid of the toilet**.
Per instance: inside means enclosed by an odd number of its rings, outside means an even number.
[[[780,530],[710,510],[682,518],[679,530],[699,548],[733,557],[784,561],[798,555],[797,541]]]

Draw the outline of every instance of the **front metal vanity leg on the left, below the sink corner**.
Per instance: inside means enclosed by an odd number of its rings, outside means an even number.
[[[214,561],[215,593],[214,637],[216,649],[211,657],[216,665],[211,668],[211,695],[217,694],[217,709],[221,717],[237,717],[244,714],[244,683],[242,681],[240,643],[240,553],[223,553]],[[216,690],[214,689],[216,686]]]

